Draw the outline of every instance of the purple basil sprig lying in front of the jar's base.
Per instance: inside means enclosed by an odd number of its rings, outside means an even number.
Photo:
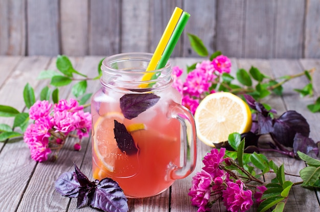
[[[103,211],[128,211],[128,200],[116,181],[104,178],[91,182],[76,164],[74,166],[75,172],[65,172],[56,180],[59,194],[78,197],[77,208],[89,205]]]

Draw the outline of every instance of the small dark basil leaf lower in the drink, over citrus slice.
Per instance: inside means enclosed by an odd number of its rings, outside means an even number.
[[[128,155],[138,152],[138,149],[134,144],[133,137],[127,131],[124,124],[121,124],[115,120],[115,128],[113,128],[113,132],[115,132],[115,138],[121,151],[125,151]]]

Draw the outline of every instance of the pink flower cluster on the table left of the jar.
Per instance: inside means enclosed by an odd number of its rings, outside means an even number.
[[[48,101],[37,101],[30,107],[29,117],[34,120],[24,134],[24,141],[28,144],[31,158],[35,161],[45,161],[52,150],[60,150],[71,132],[76,131],[79,143],[74,145],[80,150],[80,141],[88,136],[91,129],[91,114],[83,111],[74,99],[70,102],[60,100],[52,105]]]

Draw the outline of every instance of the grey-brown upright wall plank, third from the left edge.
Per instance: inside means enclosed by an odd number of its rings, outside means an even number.
[[[62,54],[88,54],[88,12],[88,0],[60,1]]]

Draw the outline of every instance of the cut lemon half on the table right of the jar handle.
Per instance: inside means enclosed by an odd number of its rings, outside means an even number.
[[[197,136],[211,147],[225,142],[229,134],[251,129],[252,117],[248,105],[230,92],[211,93],[196,109]]]

